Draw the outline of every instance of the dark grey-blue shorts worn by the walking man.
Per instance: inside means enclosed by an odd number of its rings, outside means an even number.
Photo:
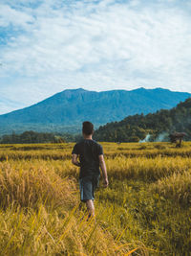
[[[80,199],[83,202],[95,199],[95,190],[98,187],[98,176],[84,176],[79,179]]]

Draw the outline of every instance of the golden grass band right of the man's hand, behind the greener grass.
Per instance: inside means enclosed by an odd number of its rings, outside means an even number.
[[[120,156],[107,159],[107,169],[109,175],[117,179],[140,178],[148,182],[187,171],[191,169],[191,161],[189,158],[181,158],[180,156],[173,159],[160,155],[156,158]]]

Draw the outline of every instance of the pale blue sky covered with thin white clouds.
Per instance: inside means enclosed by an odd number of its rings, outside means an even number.
[[[65,89],[191,92],[190,0],[1,0],[0,114]]]

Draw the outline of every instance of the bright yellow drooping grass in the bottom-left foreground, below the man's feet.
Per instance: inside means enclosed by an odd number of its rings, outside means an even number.
[[[0,212],[1,255],[116,255],[120,249],[112,235],[95,221],[77,218],[76,207],[65,217],[43,204],[28,213],[13,205]]]

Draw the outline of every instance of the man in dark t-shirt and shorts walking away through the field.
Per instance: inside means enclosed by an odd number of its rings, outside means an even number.
[[[82,133],[84,139],[74,145],[72,163],[80,167],[79,188],[81,201],[86,202],[89,212],[88,218],[95,216],[94,197],[98,186],[101,168],[104,178],[104,187],[108,186],[106,165],[101,145],[93,140],[94,125],[88,121],[83,122]],[[79,161],[78,161],[79,157]]]

